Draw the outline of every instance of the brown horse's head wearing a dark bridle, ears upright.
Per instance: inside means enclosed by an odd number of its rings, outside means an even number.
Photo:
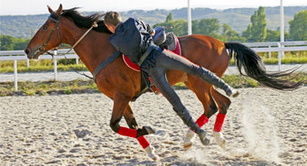
[[[24,50],[28,59],[38,59],[40,55],[59,46],[61,43],[59,24],[62,5],[60,5],[56,11],[53,11],[49,5],[47,5],[47,7],[51,15],[35,33],[33,39],[28,43],[27,48]]]

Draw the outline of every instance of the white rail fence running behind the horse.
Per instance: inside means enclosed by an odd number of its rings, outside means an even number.
[[[283,58],[284,51],[307,51],[307,41],[302,42],[247,42],[243,43],[253,49],[256,52],[269,52],[269,58],[271,58],[271,52],[278,51],[278,69],[281,70],[281,60]],[[66,53],[68,49],[53,51],[54,54]],[[74,53],[74,51],[71,51]],[[8,56],[10,55],[10,56]],[[12,56],[17,55],[17,56]],[[67,59],[76,59],[76,64],[79,63],[79,56],[77,54],[67,54]],[[50,55],[42,55],[39,60],[51,60]],[[54,80],[58,78],[57,60],[65,59],[64,55],[57,55],[53,57],[53,71]],[[29,60],[24,54],[24,51],[0,51],[1,60],[14,60],[14,89],[18,90],[18,74],[17,74],[17,60],[27,60],[27,66],[29,67]]]

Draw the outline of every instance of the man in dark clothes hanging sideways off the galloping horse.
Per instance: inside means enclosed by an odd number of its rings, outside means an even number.
[[[181,99],[167,81],[166,71],[178,69],[197,76],[217,88],[222,88],[228,97],[237,97],[237,90],[208,69],[156,46],[152,38],[154,29],[149,24],[137,18],[129,18],[126,22],[122,22],[120,14],[116,12],[107,12],[104,23],[107,29],[113,32],[109,42],[117,51],[124,53],[129,60],[140,66],[140,69],[152,79],[155,87],[172,104],[173,110],[181,117],[184,124],[199,134],[202,141],[205,132],[193,121],[188,109],[182,105]]]

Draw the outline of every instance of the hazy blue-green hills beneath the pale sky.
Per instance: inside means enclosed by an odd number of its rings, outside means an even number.
[[[255,13],[257,8],[232,8],[226,10],[216,10],[210,8],[193,8],[191,10],[192,19],[200,20],[202,18],[217,18],[219,23],[228,23],[235,31],[243,32],[250,23],[250,17]],[[294,14],[307,10],[307,6],[285,6],[284,23],[285,31],[288,31],[288,22],[293,19]],[[93,14],[87,12],[84,14]],[[104,12],[99,12],[104,13]],[[168,14],[172,13],[173,19],[186,19],[187,8],[164,10],[155,9],[151,11],[131,10],[120,12],[123,19],[135,16],[143,19],[146,23],[163,23]],[[276,30],[280,24],[279,6],[265,7],[267,28]],[[49,14],[35,15],[0,15],[0,34],[11,35],[14,37],[31,38],[33,34],[42,26]]]

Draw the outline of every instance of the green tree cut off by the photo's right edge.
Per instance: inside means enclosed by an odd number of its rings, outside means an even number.
[[[307,41],[307,10],[294,15],[290,24],[290,37],[294,41]]]

